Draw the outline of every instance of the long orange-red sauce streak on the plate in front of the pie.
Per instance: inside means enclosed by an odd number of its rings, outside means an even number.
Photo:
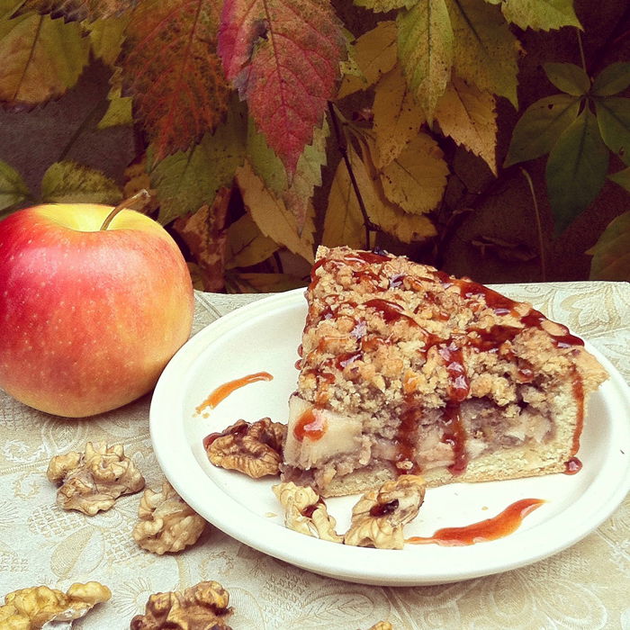
[[[523,519],[545,503],[542,499],[521,499],[509,505],[500,514],[479,523],[464,527],[444,527],[433,536],[412,536],[405,542],[411,545],[443,546],[475,545],[509,536],[520,527]]]

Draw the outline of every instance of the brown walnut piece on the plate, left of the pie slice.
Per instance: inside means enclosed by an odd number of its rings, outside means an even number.
[[[211,463],[258,479],[280,473],[286,425],[263,418],[250,424],[238,420],[221,433],[206,437]]]

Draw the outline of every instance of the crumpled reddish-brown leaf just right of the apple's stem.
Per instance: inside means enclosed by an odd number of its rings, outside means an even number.
[[[223,289],[230,193],[230,188],[221,188],[211,206],[203,205],[192,215],[180,217],[173,223],[199,267],[204,291],[220,292]]]

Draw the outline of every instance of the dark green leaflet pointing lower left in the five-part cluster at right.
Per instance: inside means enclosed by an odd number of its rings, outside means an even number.
[[[511,166],[549,153],[556,140],[577,118],[580,99],[569,94],[541,98],[527,107],[512,131],[508,156],[503,166]]]

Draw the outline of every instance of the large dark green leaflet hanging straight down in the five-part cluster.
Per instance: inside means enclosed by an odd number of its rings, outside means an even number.
[[[563,131],[547,160],[547,193],[556,235],[598,196],[607,172],[608,148],[587,107]]]

